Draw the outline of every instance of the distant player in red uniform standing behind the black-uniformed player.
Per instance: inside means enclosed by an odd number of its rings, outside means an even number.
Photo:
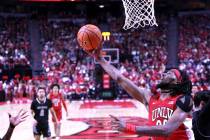
[[[55,110],[55,114],[58,118],[58,123],[55,122],[55,118],[52,117],[52,121],[54,123],[54,130],[57,139],[60,139],[60,131],[61,131],[61,119],[62,119],[62,104],[66,111],[66,116],[68,116],[68,110],[66,107],[66,103],[62,94],[59,92],[60,86],[58,84],[53,84],[51,86],[52,92],[49,94],[49,99],[52,101],[53,109]]]

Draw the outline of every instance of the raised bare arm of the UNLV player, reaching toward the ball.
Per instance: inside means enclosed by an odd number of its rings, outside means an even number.
[[[131,80],[124,77],[118,69],[109,64],[104,58],[97,59],[102,68],[112,77],[113,80],[122,86],[133,98],[147,105],[151,97],[151,92],[145,88],[139,88]]]

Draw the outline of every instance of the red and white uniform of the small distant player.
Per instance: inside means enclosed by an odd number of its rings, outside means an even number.
[[[64,109],[67,111],[66,103],[62,97],[62,94],[58,93],[58,95],[54,95],[53,93],[50,93],[49,98],[52,101],[53,109],[58,118],[58,121],[60,121],[62,119],[62,104],[64,106]],[[52,117],[52,121],[55,122],[54,117]]]

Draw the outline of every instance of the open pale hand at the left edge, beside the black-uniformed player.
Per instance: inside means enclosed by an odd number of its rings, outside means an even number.
[[[9,114],[10,124],[15,127],[19,125],[21,122],[25,121],[26,118],[29,116],[26,113],[27,111],[24,111],[23,109],[21,109],[16,116],[12,116],[11,114]]]

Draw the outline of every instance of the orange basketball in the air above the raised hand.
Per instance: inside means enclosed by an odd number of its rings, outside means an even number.
[[[100,29],[92,24],[82,26],[77,33],[77,41],[85,51],[93,51],[100,46],[102,34]]]

